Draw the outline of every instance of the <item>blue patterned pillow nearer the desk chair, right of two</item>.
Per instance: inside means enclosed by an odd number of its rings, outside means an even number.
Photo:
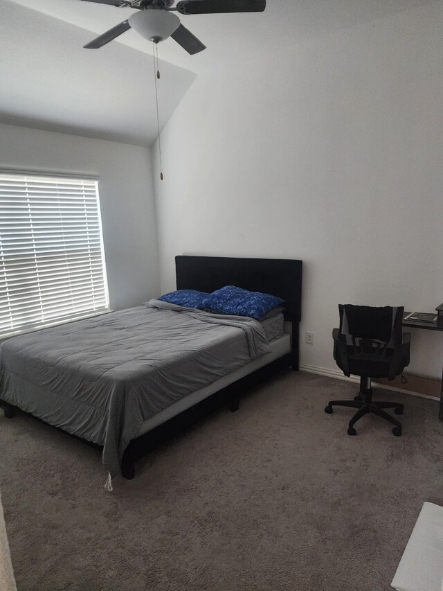
[[[271,294],[249,292],[236,288],[235,285],[226,285],[210,294],[208,308],[217,314],[249,316],[257,319],[282,302],[280,297]]]

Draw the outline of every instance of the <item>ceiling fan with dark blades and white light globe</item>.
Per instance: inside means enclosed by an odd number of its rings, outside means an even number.
[[[127,20],[86,44],[84,47],[87,49],[98,49],[133,28],[154,43],[172,37],[190,54],[203,51],[206,46],[181,24],[179,17],[173,15],[172,11],[180,12],[181,15],[208,15],[218,12],[262,12],[266,8],[266,0],[181,0],[175,8],[172,8],[174,0],[83,1],[140,9],[140,12],[134,12]]]

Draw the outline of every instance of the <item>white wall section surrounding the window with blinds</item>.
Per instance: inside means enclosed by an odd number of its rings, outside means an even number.
[[[0,124],[0,168],[98,175],[111,308],[159,294],[150,150]]]

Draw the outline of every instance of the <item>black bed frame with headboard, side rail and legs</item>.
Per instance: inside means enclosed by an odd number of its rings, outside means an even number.
[[[130,441],[122,460],[122,475],[127,479],[134,478],[136,462],[159,443],[170,439],[221,405],[228,404],[230,409],[235,412],[239,408],[239,398],[246,389],[275,375],[278,371],[289,367],[295,371],[298,370],[302,261],[277,258],[176,256],[175,264],[178,290],[193,289],[213,292],[224,285],[237,285],[237,287],[246,290],[270,293],[281,297],[284,300],[284,319],[291,322],[292,327],[291,351]],[[16,412],[22,412],[3,400],[0,400],[0,406],[4,408],[8,418],[14,416]],[[73,437],[86,441],[75,435]],[[94,448],[102,449],[96,443],[90,441],[86,441],[86,443]]]

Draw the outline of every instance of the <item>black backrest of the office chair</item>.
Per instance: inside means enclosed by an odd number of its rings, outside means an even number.
[[[389,348],[401,343],[403,306],[353,306],[339,304],[340,334],[347,344],[355,344],[355,339],[380,341]]]

